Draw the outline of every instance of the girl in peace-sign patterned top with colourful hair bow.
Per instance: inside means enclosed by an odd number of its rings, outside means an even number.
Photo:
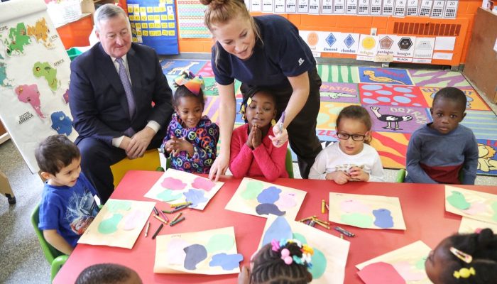
[[[175,78],[175,114],[168,126],[161,151],[171,167],[188,173],[209,173],[216,159],[219,127],[202,116],[205,100],[204,80],[192,72]]]

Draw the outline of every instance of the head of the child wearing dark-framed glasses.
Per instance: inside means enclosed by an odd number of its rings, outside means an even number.
[[[361,106],[344,107],[337,117],[339,147],[347,155],[361,153],[371,141],[371,117]]]

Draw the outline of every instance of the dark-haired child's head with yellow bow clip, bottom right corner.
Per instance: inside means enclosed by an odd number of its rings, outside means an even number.
[[[449,236],[430,252],[425,269],[435,284],[496,284],[497,235],[483,229]]]

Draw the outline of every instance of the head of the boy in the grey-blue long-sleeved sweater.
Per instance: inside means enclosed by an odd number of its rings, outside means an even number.
[[[460,89],[445,87],[440,89],[433,98],[430,109],[433,123],[432,129],[447,134],[457,128],[459,122],[466,116],[466,95]]]

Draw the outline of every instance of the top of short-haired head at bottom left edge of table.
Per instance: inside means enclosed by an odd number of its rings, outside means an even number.
[[[88,266],[77,276],[75,284],[141,284],[136,271],[114,263]]]

